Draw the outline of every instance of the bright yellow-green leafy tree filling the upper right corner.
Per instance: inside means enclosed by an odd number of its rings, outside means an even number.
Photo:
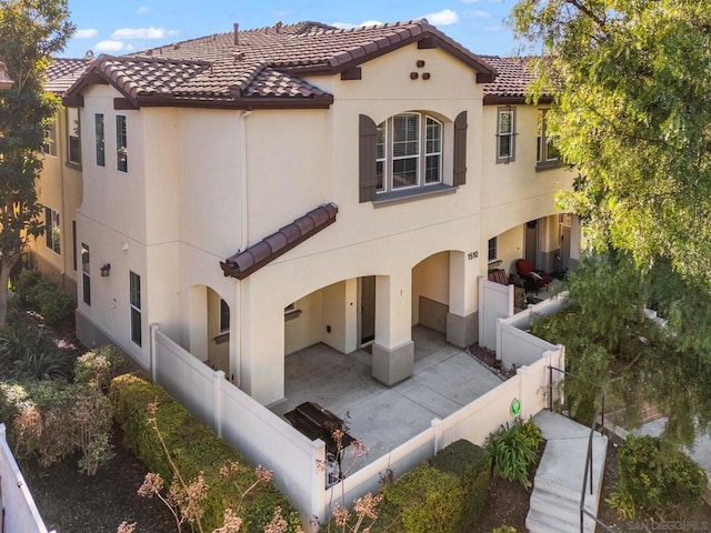
[[[711,282],[711,10],[699,0],[521,0],[535,99],[577,169],[563,198],[599,245]]]

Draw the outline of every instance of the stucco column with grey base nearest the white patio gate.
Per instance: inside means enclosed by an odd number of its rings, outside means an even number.
[[[471,346],[479,340],[478,273],[478,258],[450,252],[447,342],[459,348]]]

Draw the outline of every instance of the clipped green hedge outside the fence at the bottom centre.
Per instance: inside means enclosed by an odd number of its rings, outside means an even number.
[[[481,519],[491,465],[480,446],[457,441],[381,490],[372,533],[459,533]],[[351,513],[352,525],[354,513]],[[321,531],[341,531],[331,520]],[[346,530],[350,531],[350,530]]]

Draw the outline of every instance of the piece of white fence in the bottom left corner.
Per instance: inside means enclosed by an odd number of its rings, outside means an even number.
[[[0,510],[3,533],[47,533],[32,494],[8,446],[4,424],[0,424]]]

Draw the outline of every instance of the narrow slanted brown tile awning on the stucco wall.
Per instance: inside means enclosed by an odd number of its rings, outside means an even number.
[[[243,252],[220,261],[226,276],[243,280],[248,275],[266,266],[278,257],[287,253],[319,231],[336,222],[338,205],[333,202],[309,211],[303,217],[284,225],[278,232],[262,239]]]

